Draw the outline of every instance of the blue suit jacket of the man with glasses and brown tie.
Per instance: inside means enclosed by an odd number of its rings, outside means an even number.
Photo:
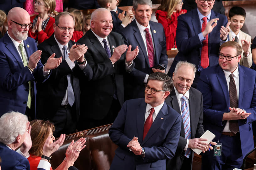
[[[238,108],[252,113],[245,120],[238,120],[241,148],[244,156],[254,147],[252,122],[256,120],[256,72],[239,65]],[[229,91],[225,74],[219,65],[201,72],[197,89],[203,94],[204,128],[216,135],[217,142],[227,123],[222,121],[223,113],[229,112]]]

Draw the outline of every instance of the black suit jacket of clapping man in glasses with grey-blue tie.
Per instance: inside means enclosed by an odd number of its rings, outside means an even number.
[[[69,41],[69,49],[75,42]],[[43,43],[38,45],[38,49],[42,50],[41,61],[46,63],[47,59],[52,53],[55,53],[55,58],[62,56],[61,50],[54,38],[54,34]],[[64,58],[63,58],[64,59]],[[52,70],[50,78],[44,83],[37,83],[38,96],[37,96],[37,115],[40,119],[51,119],[57,109],[61,106],[61,102],[67,90],[67,75],[71,74],[72,86],[75,94],[75,113],[76,118],[80,115],[80,86],[79,78],[90,80],[92,79],[92,68],[87,64],[85,69],[81,70],[78,63],[75,62],[75,67],[71,70],[65,60]]]

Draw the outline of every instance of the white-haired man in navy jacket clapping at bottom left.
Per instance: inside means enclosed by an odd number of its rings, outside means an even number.
[[[31,148],[31,138],[28,117],[19,112],[5,113],[0,118],[0,157],[3,169],[27,169],[29,170],[29,149]],[[38,170],[50,170],[51,164],[47,157],[50,157],[64,142],[65,134],[51,143],[51,136],[45,142],[43,156],[38,164]],[[21,148],[15,151],[17,148]],[[27,156],[28,155],[28,156]],[[42,157],[43,157],[42,156]]]

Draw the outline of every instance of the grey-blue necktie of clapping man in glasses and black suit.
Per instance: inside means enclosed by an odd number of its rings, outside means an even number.
[[[67,51],[67,46],[64,45],[63,48],[63,54],[64,54],[64,59],[68,58],[68,51]],[[72,88],[72,84],[71,84],[71,75],[68,74],[67,75],[67,100],[68,100],[68,104],[70,106],[72,106],[75,102],[75,94]]]

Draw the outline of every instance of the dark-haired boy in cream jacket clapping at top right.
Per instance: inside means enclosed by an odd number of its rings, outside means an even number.
[[[238,42],[243,51],[241,55],[240,65],[250,68],[253,64],[251,53],[252,37],[241,31],[245,21],[246,12],[241,7],[232,7],[229,10],[228,21],[230,21],[229,40]]]

